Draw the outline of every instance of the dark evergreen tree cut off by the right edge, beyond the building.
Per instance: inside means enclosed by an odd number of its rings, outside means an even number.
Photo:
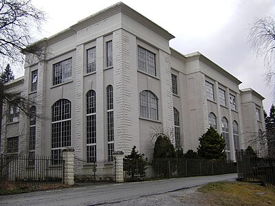
[[[270,107],[270,115],[265,117],[265,138],[267,140],[268,155],[275,157],[275,106]]]

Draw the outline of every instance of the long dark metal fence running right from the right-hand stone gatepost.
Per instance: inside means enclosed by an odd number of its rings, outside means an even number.
[[[124,180],[142,181],[173,176],[202,176],[236,172],[233,161],[205,159],[124,159]]]

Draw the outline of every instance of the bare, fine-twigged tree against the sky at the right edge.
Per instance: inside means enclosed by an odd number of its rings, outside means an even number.
[[[248,41],[257,56],[264,60],[265,81],[267,86],[272,85],[275,93],[275,19],[267,16],[263,19],[256,19],[250,26]]]

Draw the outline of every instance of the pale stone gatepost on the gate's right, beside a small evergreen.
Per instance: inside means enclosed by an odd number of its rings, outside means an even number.
[[[115,151],[113,152],[113,160],[114,160],[114,167],[113,167],[113,173],[115,182],[117,183],[123,183],[124,182],[124,176],[123,176],[123,157],[124,152],[122,151]]]

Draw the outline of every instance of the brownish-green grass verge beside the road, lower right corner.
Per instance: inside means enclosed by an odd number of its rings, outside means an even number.
[[[275,205],[275,187],[256,183],[209,183],[198,191],[209,195],[210,205]]]

